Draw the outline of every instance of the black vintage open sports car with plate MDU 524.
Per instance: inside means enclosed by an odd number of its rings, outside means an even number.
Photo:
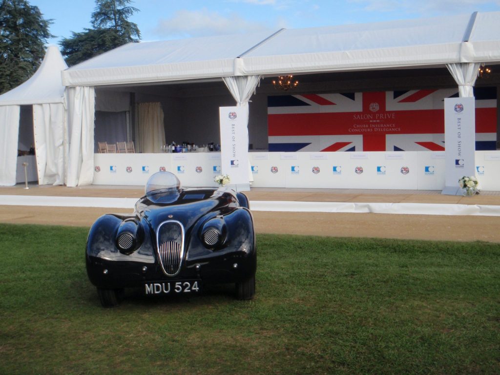
[[[195,294],[231,282],[238,299],[255,293],[257,264],[248,198],[227,188],[180,188],[154,173],[131,215],[105,214],[88,233],[86,268],[104,307],[125,287],[145,294]]]

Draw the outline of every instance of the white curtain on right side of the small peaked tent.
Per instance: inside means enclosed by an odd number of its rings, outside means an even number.
[[[64,127],[62,103],[33,104],[33,128],[38,183],[64,183]]]

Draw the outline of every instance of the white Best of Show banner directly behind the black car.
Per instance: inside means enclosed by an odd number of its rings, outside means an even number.
[[[249,190],[248,104],[219,107],[221,171],[230,187]]]

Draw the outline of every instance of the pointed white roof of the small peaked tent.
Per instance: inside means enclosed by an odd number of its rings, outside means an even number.
[[[61,70],[66,62],[55,45],[49,45],[38,69],[24,83],[0,95],[0,105],[61,103],[64,86]]]

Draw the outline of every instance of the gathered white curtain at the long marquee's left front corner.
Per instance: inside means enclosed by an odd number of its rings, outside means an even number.
[[[89,185],[93,180],[94,105],[93,87],[67,87],[69,152],[66,185]]]

